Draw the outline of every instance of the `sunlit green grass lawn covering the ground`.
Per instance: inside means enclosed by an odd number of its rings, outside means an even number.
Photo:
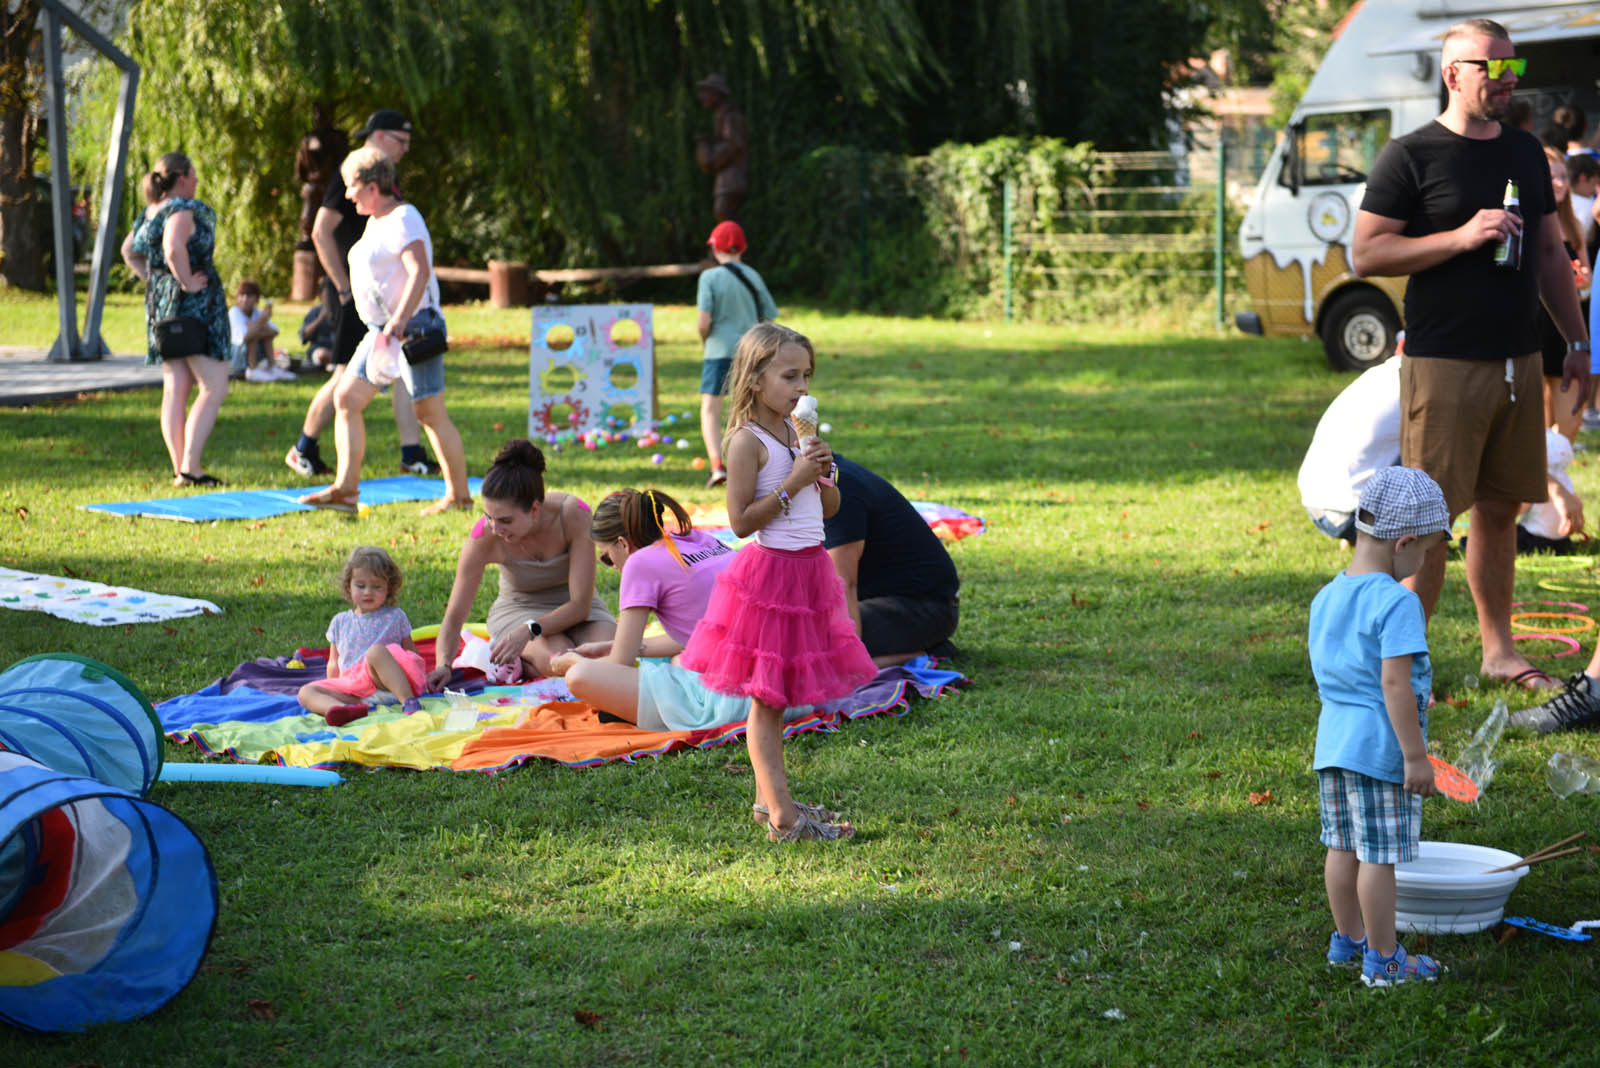
[[[138,315],[114,305],[114,345]],[[693,411],[693,309],[656,315],[661,398]],[[450,411],[482,473],[526,425],[526,312],[448,318]],[[218,868],[205,969],[130,1025],[0,1031],[0,1065],[1594,1063],[1594,948],[1435,937],[1450,975],[1394,991],[1323,964],[1304,630],[1344,556],[1294,470],[1347,379],[1315,344],[787,321],[818,344],[835,448],[989,521],[952,547],[973,684],[786,750],[797,793],[843,807],[854,843],[770,846],[741,745],[494,777],[350,769],[333,790],[160,783]],[[0,337],[51,336],[48,304],[0,297]],[[298,484],[282,456],[312,389],[237,385],[208,467]],[[368,427],[368,476],[394,473],[381,406]],[[320,644],[357,542],[389,547],[413,622],[437,622],[467,526],[414,505],[211,526],[82,512],[176,492],[150,390],[6,409],[0,452],[0,564],[226,609],[104,632],[0,612],[0,665],[83,652],[152,700]],[[568,451],[549,481],[709,504],[690,456]],[[1594,457],[1574,465],[1590,502]],[[1573,596],[1531,572],[1518,595]],[[1464,699],[1434,713],[1451,758],[1496,697],[1531,703],[1464,687],[1475,633],[1453,561],[1430,628],[1437,689]],[[1429,801],[1424,838],[1522,854],[1594,830],[1600,798],[1544,785],[1558,748],[1600,756],[1595,735],[1509,734],[1485,798]],[[1570,924],[1597,902],[1586,854],[1533,868],[1512,910]]]

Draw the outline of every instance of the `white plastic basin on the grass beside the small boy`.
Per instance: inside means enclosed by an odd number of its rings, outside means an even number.
[[[1395,865],[1395,927],[1413,934],[1472,934],[1493,927],[1528,868],[1483,873],[1520,859],[1488,846],[1419,843],[1416,860]]]

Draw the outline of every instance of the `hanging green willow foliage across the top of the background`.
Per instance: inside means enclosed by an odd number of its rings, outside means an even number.
[[[816,222],[790,224],[781,190],[827,145],[920,153],[1003,133],[1152,142],[1168,66],[1216,10],[1250,6],[136,0],[123,40],[144,66],[139,169],[189,152],[221,216],[224,270],[282,285],[299,211],[293,153],[317,101],[352,130],[379,106],[411,115],[402,176],[440,264],[669,262],[698,256],[714,221],[693,161],[709,126],[694,83],[720,72],[749,117],[746,224],[762,262],[778,253],[770,235],[803,238]],[[843,216],[854,189],[832,190],[824,211],[854,219]]]

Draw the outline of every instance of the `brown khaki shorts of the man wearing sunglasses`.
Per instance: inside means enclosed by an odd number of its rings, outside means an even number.
[[[1400,462],[1427,472],[1451,518],[1474,500],[1544,500],[1544,365],[1405,357]],[[1512,400],[1515,397],[1515,400]]]

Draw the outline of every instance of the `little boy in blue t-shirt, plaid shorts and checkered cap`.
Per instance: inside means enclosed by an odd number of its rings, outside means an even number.
[[[1438,961],[1395,940],[1395,863],[1416,857],[1427,759],[1422,603],[1400,585],[1450,539],[1450,510],[1413,467],[1379,470],[1362,488],[1355,552],[1310,603],[1312,675],[1322,694],[1312,766],[1322,790],[1323,881],[1334,931],[1330,964],[1360,964],[1368,986],[1434,980]]]

